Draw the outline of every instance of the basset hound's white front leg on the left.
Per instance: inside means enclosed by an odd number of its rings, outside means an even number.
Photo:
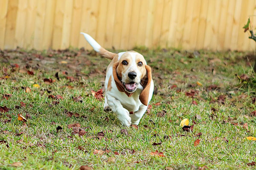
[[[131,117],[129,116],[129,111],[122,107],[122,104],[119,100],[106,93],[108,106],[116,113],[117,118],[120,120],[122,125],[130,126]]]

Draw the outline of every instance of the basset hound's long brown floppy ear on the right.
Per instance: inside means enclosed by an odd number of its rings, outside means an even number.
[[[149,97],[149,91],[150,91],[150,85],[152,81],[152,75],[151,75],[151,67],[148,65],[145,65],[145,69],[147,71],[147,74],[145,77],[141,80],[141,83],[143,84],[143,90],[140,93],[140,102],[147,106],[148,105],[148,97]]]

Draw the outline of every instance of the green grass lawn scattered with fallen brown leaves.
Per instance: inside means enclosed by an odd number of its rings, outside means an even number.
[[[245,139],[256,137],[256,90],[236,77],[253,79],[247,53],[134,50],[156,86],[138,127],[103,111],[110,61],[94,51],[1,51],[0,169],[256,167],[247,165],[256,161],[256,141]],[[180,127],[185,118],[192,131]]]

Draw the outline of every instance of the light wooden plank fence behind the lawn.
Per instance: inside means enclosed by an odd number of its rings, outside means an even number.
[[[0,0],[0,48],[255,50],[256,0]],[[91,48],[90,48],[91,49]]]

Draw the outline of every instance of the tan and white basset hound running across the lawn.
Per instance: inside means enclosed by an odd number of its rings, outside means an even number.
[[[81,34],[96,52],[112,60],[106,72],[104,111],[116,113],[122,125],[138,125],[154,90],[151,68],[143,55],[135,51],[114,54],[102,48],[90,35]]]

